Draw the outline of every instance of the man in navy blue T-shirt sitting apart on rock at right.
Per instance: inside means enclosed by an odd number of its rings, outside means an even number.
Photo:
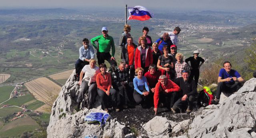
[[[242,83],[244,83],[244,79],[240,74],[236,70],[231,69],[232,65],[230,62],[225,61],[223,63],[223,67],[224,68],[220,69],[219,72],[217,93],[215,99],[211,101],[212,104],[219,103],[222,91],[233,93],[240,89],[242,87]]]

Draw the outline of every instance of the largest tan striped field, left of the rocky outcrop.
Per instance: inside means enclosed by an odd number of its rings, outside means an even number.
[[[42,102],[50,99],[50,93],[58,95],[61,87],[49,80],[48,78],[41,77],[24,84],[34,97]]]

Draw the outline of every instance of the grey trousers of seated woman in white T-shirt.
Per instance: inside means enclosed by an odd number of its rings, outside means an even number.
[[[93,103],[94,103],[94,99],[96,97],[96,88],[97,88],[97,84],[96,82],[92,82],[90,86],[88,86],[88,82],[87,81],[82,81],[81,84],[81,91],[78,95],[78,99],[76,100],[77,103],[80,103],[83,99],[84,99],[84,94],[88,89],[88,107],[92,107]]]

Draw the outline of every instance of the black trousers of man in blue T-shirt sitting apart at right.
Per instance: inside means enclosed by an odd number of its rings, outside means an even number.
[[[241,83],[235,83],[235,84],[226,84],[225,82],[219,82],[217,86],[217,93],[216,98],[220,98],[220,94],[222,91],[233,93],[235,91],[238,91],[242,87]]]

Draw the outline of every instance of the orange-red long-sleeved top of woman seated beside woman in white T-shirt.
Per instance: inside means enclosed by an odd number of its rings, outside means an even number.
[[[97,87],[99,89],[106,92],[106,91],[110,90],[111,85],[112,85],[111,84],[111,75],[110,75],[110,73],[106,72],[104,77],[102,76],[101,72],[98,73],[96,76],[96,83],[97,83]]]

